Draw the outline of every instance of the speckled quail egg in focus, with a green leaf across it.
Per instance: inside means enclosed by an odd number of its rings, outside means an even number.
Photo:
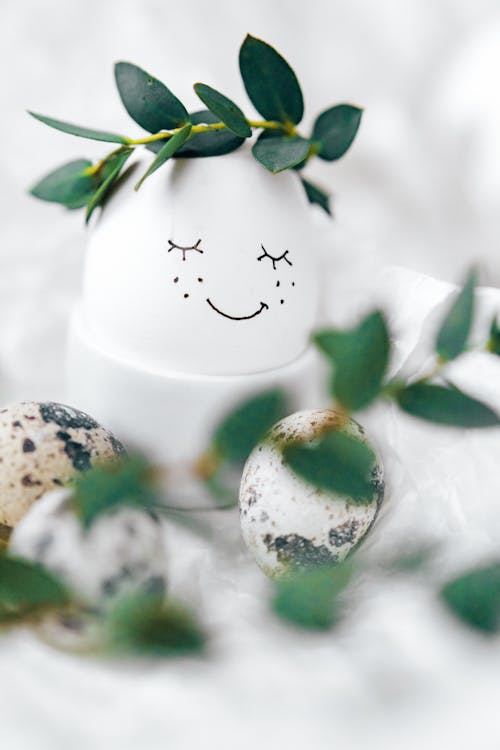
[[[375,520],[384,494],[378,458],[372,470],[373,499],[366,505],[317,489],[283,461],[284,442],[312,440],[339,421],[332,410],[296,412],[278,422],[248,458],[239,497],[241,529],[256,562],[271,577],[340,562]],[[368,442],[353,419],[339,429]]]

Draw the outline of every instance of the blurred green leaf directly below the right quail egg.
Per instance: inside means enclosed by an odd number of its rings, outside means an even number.
[[[275,585],[272,607],[287,622],[310,630],[329,630],[339,621],[343,607],[339,594],[349,584],[352,563],[312,568]]]

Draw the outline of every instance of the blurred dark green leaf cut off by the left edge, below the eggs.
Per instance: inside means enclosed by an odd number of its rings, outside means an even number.
[[[66,587],[44,567],[0,555],[0,622],[21,620],[69,601]]]

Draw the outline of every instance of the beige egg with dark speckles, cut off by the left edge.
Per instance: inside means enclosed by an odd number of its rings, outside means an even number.
[[[124,452],[111,432],[70,406],[22,401],[0,409],[0,529],[15,526],[48,490]]]

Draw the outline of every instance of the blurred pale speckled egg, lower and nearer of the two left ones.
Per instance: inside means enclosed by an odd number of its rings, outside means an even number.
[[[130,590],[163,593],[166,559],[154,513],[120,506],[85,530],[71,506],[70,489],[46,493],[14,529],[10,554],[41,563],[81,602],[81,609],[46,615],[43,635],[64,647],[98,640],[100,617]]]

